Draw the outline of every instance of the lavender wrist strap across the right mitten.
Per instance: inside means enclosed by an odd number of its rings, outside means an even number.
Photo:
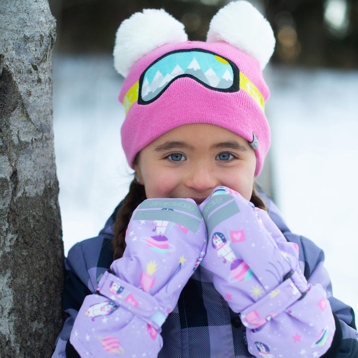
[[[241,312],[243,325],[250,329],[261,327],[302,298],[306,290],[306,282],[297,272],[290,271],[282,283]]]

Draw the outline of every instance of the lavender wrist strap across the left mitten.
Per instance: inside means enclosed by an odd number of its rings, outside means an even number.
[[[156,298],[108,271],[99,280],[97,293],[141,317],[157,330],[168,316]]]

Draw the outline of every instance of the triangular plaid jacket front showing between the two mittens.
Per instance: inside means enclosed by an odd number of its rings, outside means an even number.
[[[245,327],[216,291],[210,272],[200,266],[182,290],[164,323],[158,357],[253,357]]]

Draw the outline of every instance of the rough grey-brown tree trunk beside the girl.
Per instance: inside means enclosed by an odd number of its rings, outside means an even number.
[[[47,0],[0,0],[0,357],[51,357],[63,242]]]

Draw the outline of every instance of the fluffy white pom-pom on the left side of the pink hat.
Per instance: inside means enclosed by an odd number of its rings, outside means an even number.
[[[132,66],[154,49],[187,41],[184,25],[164,9],[144,9],[124,20],[116,33],[114,67],[126,77]]]

